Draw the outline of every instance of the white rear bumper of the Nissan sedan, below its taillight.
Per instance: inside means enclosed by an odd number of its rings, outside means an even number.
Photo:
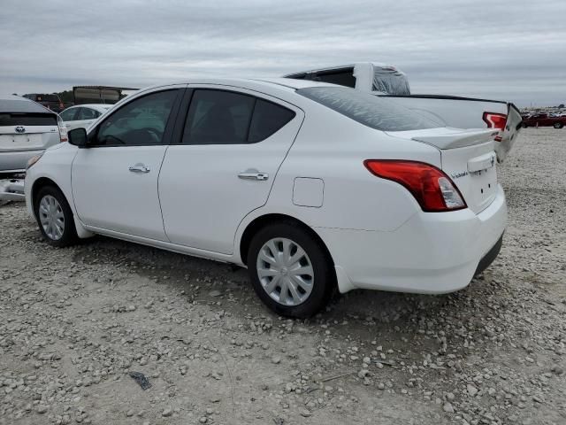
[[[481,213],[416,213],[375,232],[315,228],[333,256],[340,292],[356,288],[440,294],[465,288],[501,248],[507,205],[501,186]],[[483,268],[482,268],[483,267]]]

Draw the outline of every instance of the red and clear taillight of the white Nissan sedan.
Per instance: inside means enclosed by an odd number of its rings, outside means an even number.
[[[382,179],[404,186],[424,212],[438,213],[466,208],[462,194],[436,166],[398,159],[366,159],[363,165]]]

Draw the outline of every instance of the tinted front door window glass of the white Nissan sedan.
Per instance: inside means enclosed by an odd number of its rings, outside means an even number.
[[[98,127],[95,146],[164,143],[163,135],[178,90],[159,91],[123,105]]]

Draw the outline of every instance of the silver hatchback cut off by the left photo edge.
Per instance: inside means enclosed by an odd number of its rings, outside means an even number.
[[[57,113],[25,97],[0,97],[0,174],[24,172],[29,158],[65,141]]]

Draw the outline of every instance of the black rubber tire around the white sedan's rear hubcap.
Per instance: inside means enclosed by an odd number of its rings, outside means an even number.
[[[285,238],[298,244],[310,259],[314,278],[310,295],[301,304],[283,305],[270,297],[264,290],[257,273],[257,259],[264,243],[274,238]],[[328,303],[336,288],[336,274],[333,261],[324,246],[310,235],[310,232],[293,222],[281,222],[261,228],[252,238],[248,250],[249,279],[257,296],[273,312],[292,318],[308,318],[318,313]],[[280,291],[280,289],[279,289]]]

